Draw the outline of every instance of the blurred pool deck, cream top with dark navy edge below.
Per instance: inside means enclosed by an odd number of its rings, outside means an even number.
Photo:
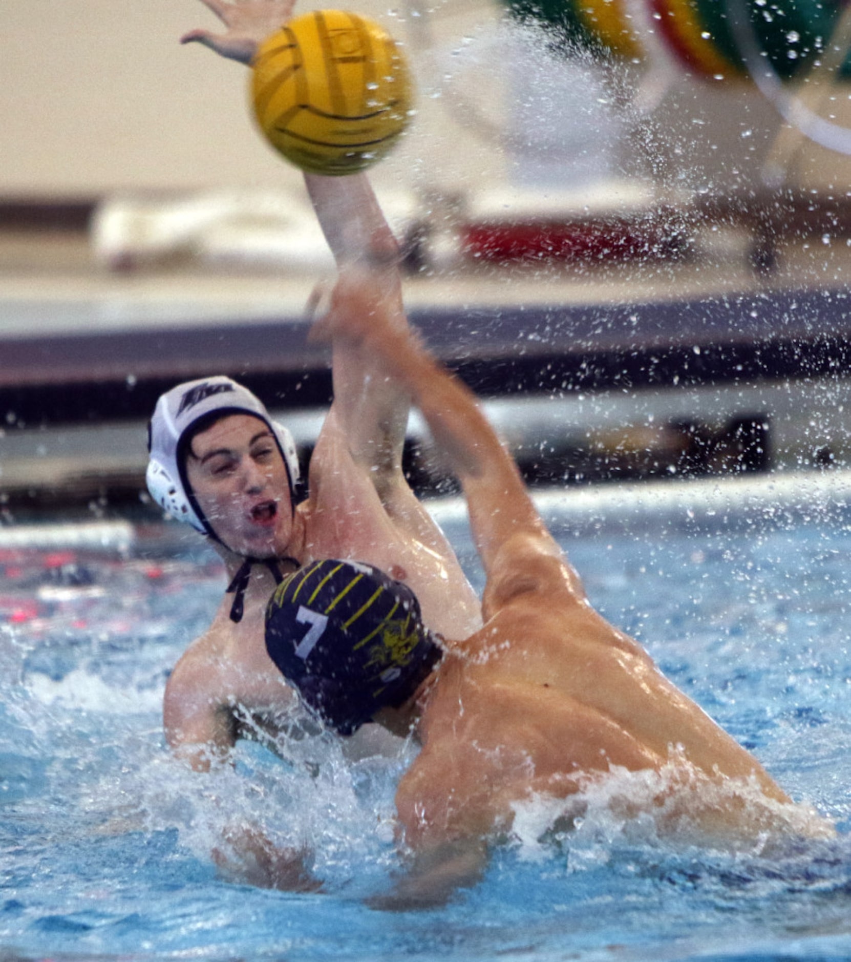
[[[203,264],[110,273],[85,239],[29,240],[0,237],[0,405],[17,417],[137,418],[163,386],[211,371],[284,407],[327,399],[327,355],[306,341],[314,276]],[[845,367],[851,249],[789,246],[782,263],[767,275],[740,252],[466,266],[409,276],[406,298],[427,342],[491,395],[563,381],[599,390],[618,374],[640,386]]]

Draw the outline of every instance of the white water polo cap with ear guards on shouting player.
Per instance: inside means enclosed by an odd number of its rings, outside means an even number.
[[[273,421],[259,397],[229,377],[204,377],[187,381],[160,395],[148,425],[148,469],[145,474],[151,497],[179,521],[218,540],[192,495],[187,481],[183,442],[201,418],[219,415],[252,415],[272,432],[287,468],[289,497],[295,507],[298,456],[292,435],[283,424]]]

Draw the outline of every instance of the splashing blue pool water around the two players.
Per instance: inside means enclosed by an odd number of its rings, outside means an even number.
[[[541,505],[594,603],[838,837],[772,855],[665,841],[618,814],[642,790],[621,780],[569,836],[542,839],[552,813],[530,806],[479,886],[421,913],[363,903],[397,866],[412,747],[354,761],[316,736],[282,760],[245,744],[214,776],[169,758],[163,684],[220,598],[213,554],[170,528],[0,539],[0,958],[851,957],[851,510],[835,489],[802,486],[804,507],[732,490]],[[438,514],[480,582],[458,512]],[[235,815],[310,843],[323,891],[219,877],[210,847]]]

